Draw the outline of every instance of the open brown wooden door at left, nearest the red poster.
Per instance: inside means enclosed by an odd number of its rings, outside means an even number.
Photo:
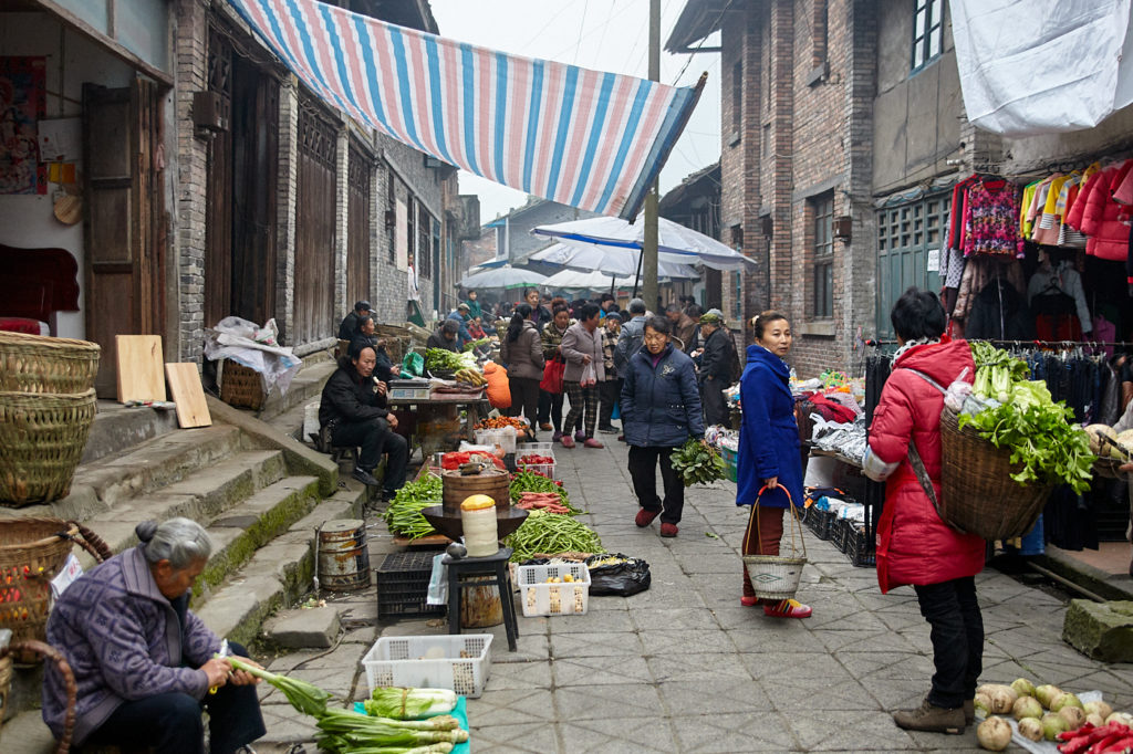
[[[102,346],[101,397],[117,395],[114,336],[164,329],[161,131],[153,82],[135,79],[118,89],[84,85],[86,335]]]

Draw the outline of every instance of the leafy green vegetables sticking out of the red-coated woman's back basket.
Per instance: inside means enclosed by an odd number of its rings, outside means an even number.
[[[1045,383],[1028,380],[1026,365],[1006,351],[976,342],[972,357],[972,392],[987,408],[961,413],[960,426],[971,425],[996,447],[1011,449],[1011,462],[1022,464],[1011,478],[1021,485],[1065,483],[1080,494],[1089,489],[1097,459],[1074,412],[1055,403]]]

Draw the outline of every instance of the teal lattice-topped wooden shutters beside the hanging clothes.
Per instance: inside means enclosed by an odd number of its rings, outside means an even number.
[[[940,290],[939,255],[948,229],[947,194],[885,207],[877,213],[877,334],[895,337],[889,310],[910,285]],[[929,259],[934,259],[929,271]]]

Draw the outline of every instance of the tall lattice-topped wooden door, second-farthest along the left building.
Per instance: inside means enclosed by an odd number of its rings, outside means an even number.
[[[335,126],[320,105],[299,108],[292,345],[332,337],[334,318]]]

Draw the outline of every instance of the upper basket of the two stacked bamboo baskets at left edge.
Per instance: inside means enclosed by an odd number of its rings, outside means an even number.
[[[85,393],[99,371],[97,343],[0,331],[0,391]]]

